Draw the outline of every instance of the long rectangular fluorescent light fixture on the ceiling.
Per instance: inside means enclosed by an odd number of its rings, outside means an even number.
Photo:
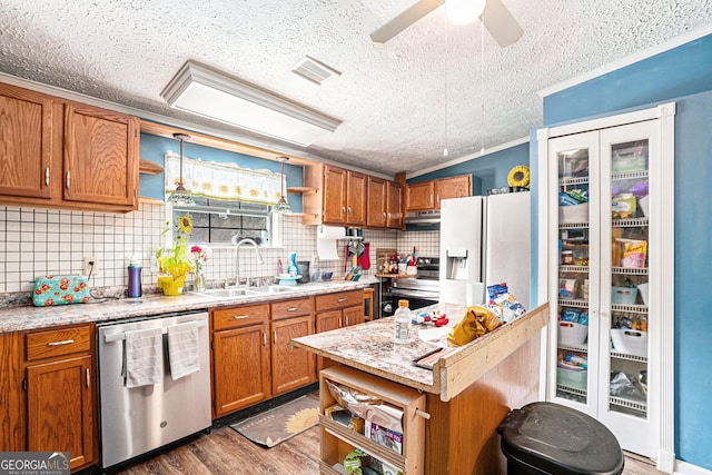
[[[169,106],[306,147],[342,123],[240,79],[188,61],[161,97]]]

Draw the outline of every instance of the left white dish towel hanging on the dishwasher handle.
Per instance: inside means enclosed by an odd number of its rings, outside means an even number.
[[[159,384],[164,379],[164,338],[161,328],[126,331],[123,377],[126,387]]]

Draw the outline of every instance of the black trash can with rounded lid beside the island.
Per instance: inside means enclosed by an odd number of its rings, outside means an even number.
[[[603,424],[554,403],[532,403],[512,410],[497,433],[507,475],[617,475],[623,451]]]

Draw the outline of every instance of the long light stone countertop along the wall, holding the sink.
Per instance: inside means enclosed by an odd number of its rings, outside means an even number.
[[[60,325],[150,317],[175,311],[288,300],[312,295],[363,289],[368,284],[367,280],[355,283],[344,280],[309,283],[295,286],[295,291],[293,293],[250,295],[236,298],[215,298],[191,293],[178,297],[152,294],[140,298],[95,299],[87,304],[58,305],[53,307],[7,307],[0,309],[0,334],[50,328]]]

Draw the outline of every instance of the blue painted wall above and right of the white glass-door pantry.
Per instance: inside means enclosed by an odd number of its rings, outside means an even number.
[[[675,455],[712,469],[712,36],[554,93],[544,125],[675,100]],[[535,150],[534,150],[535,151]],[[532,155],[532,168],[538,161]],[[534,232],[537,217],[533,216]],[[672,316],[670,316],[672,317]]]

